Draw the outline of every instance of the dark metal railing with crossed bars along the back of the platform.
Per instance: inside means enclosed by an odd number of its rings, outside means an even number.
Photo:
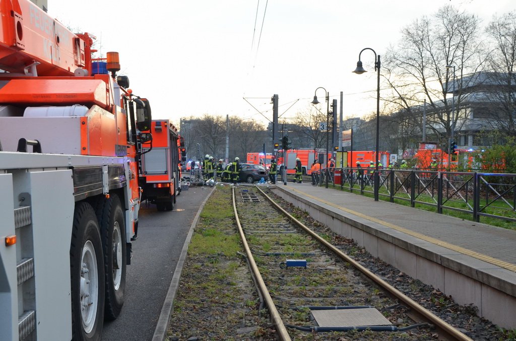
[[[516,221],[516,174],[437,172],[424,169],[379,169],[379,197],[402,200],[472,216]],[[322,172],[324,177],[324,169]],[[329,182],[349,192],[374,194],[368,168],[335,168]]]

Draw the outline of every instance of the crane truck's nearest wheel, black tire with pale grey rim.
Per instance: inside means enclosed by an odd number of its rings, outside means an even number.
[[[87,202],[75,205],[70,242],[72,339],[98,341],[104,323],[104,271],[97,217]]]

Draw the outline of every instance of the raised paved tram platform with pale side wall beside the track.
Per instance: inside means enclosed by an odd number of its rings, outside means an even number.
[[[516,231],[308,183],[271,185],[374,257],[516,328]]]

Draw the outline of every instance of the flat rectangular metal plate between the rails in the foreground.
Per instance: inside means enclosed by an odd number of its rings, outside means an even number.
[[[391,326],[375,308],[311,310],[319,327]]]

